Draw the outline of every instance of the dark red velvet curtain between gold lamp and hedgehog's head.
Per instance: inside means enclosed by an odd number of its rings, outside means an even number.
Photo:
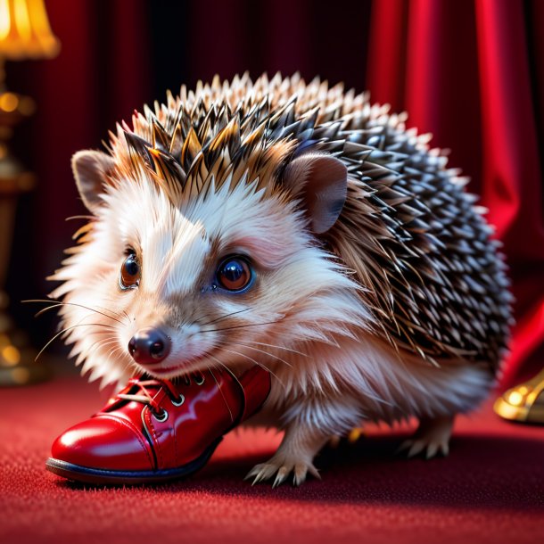
[[[21,198],[7,289],[12,314],[37,346],[53,335],[54,317],[33,318],[19,301],[43,298],[45,276],[59,267],[85,214],[70,171],[71,155],[107,139],[152,98],[149,34],[144,0],[45,0],[61,53],[53,60],[9,62],[7,85],[30,95],[37,112],[15,131],[15,154],[36,172],[37,187]],[[60,348],[58,342],[53,349]]]

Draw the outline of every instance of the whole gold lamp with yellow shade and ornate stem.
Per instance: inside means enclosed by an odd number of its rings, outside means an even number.
[[[12,156],[8,145],[13,128],[32,115],[35,103],[8,91],[4,62],[51,58],[59,50],[44,0],[0,0],[0,385],[22,385],[48,375],[44,365],[34,362],[36,352],[26,334],[14,326],[4,292],[17,198],[35,185],[34,175]]]

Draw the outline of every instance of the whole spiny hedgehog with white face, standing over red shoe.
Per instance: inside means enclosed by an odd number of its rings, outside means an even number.
[[[82,372],[265,367],[251,424],[284,436],[254,482],[318,476],[317,452],[365,422],[414,417],[408,455],[447,455],[496,381],[512,296],[468,179],[406,120],[319,78],[245,74],[168,93],[77,152],[91,215],[51,296]],[[159,326],[172,348],[146,367],[128,342]]]

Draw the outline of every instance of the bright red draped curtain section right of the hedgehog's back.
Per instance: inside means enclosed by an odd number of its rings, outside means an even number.
[[[504,243],[517,325],[503,383],[544,340],[543,15],[538,2],[389,0],[374,2],[371,21],[371,95],[453,149],[449,165],[473,178]]]

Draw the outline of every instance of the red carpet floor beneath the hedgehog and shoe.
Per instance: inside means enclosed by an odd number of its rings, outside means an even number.
[[[101,408],[75,377],[0,391],[0,540],[26,542],[394,542],[522,544],[544,536],[544,429],[490,407],[457,422],[448,458],[393,455],[406,429],[327,450],[323,481],[251,487],[271,433],[227,436],[209,466],[155,488],[84,489],[45,472],[54,437]]]

